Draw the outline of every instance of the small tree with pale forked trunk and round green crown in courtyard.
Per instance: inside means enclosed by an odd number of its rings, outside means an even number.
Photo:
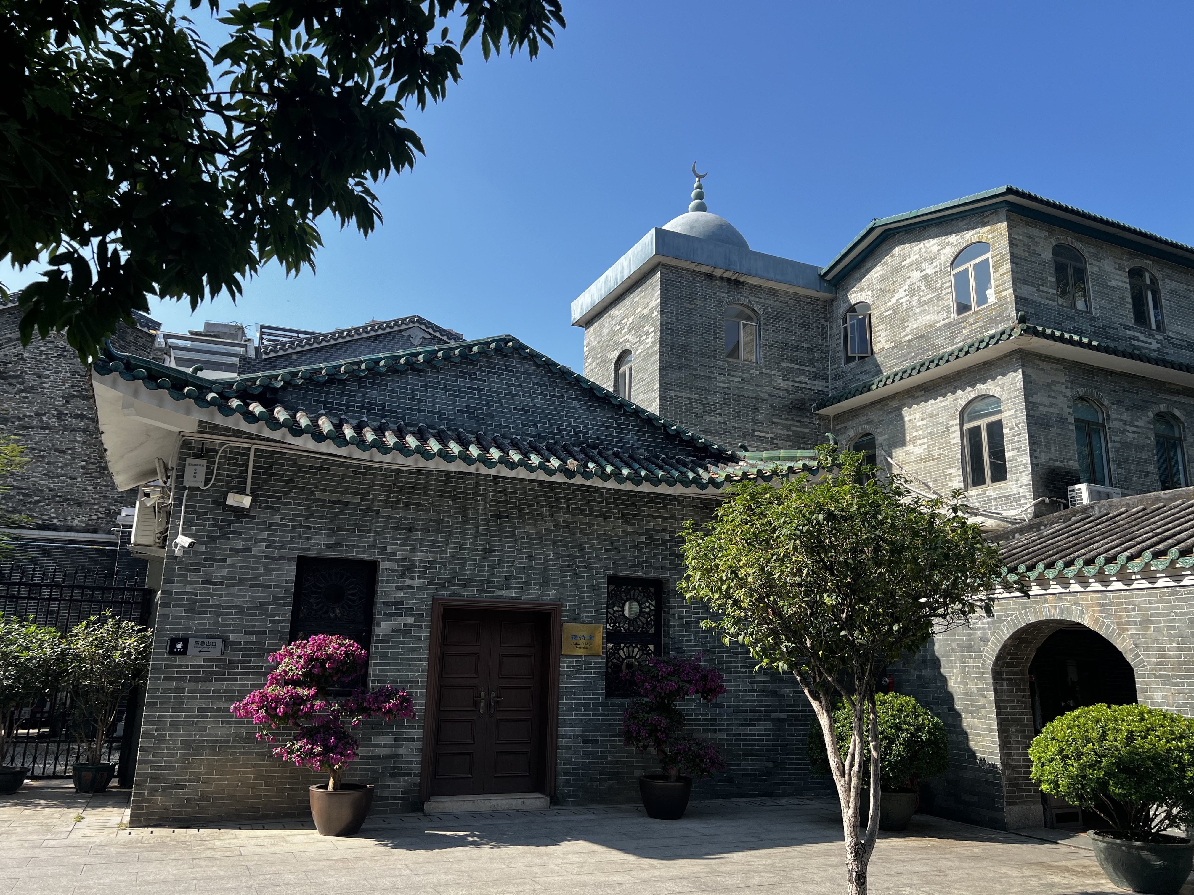
[[[716,616],[702,624],[746,647],[758,668],[795,675],[842,806],[849,891],[861,895],[879,833],[879,677],[934,631],[989,610],[1005,579],[997,549],[956,500],[923,498],[861,453],[821,445],[818,455],[818,475],[734,486],[710,523],[689,521],[679,590],[707,603]],[[850,714],[844,755],[838,702]]]

